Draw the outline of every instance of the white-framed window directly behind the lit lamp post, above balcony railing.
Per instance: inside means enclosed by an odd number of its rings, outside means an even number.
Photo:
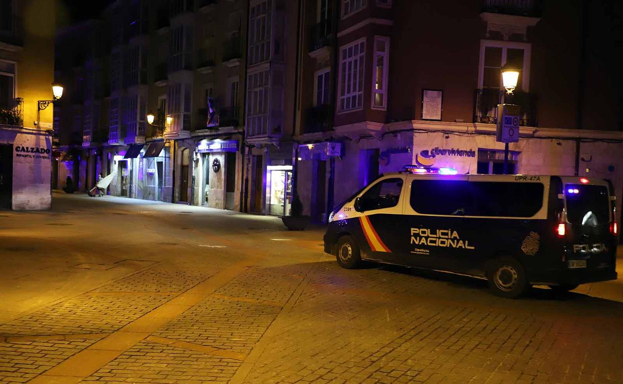
[[[528,91],[530,85],[531,45],[523,42],[482,40],[480,44],[479,88],[502,89],[502,66],[505,63],[520,69],[517,89]]]

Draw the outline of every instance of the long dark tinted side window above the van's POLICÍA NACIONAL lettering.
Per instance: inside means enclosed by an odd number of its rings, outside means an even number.
[[[426,215],[533,217],[543,190],[541,183],[414,180],[411,207]]]

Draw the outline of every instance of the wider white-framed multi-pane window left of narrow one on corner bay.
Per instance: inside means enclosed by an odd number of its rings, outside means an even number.
[[[357,110],[363,106],[365,49],[365,39],[358,40],[341,49],[340,111]]]

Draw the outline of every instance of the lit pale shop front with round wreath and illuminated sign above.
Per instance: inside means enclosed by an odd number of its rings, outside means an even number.
[[[239,210],[242,164],[239,141],[202,139],[197,142],[196,153],[196,179],[200,180],[198,204]]]

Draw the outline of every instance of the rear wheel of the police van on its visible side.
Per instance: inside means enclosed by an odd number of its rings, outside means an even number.
[[[530,288],[526,270],[510,256],[502,256],[489,263],[487,281],[493,294],[507,299],[520,297]]]

